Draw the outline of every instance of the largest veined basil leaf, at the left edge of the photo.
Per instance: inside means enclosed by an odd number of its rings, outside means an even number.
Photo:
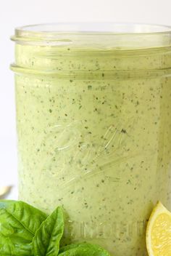
[[[22,201],[0,200],[0,255],[31,255],[31,242],[46,214]]]

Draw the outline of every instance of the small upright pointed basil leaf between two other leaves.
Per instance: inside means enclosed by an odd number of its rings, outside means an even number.
[[[64,233],[64,217],[61,207],[41,223],[33,238],[34,256],[57,256],[59,252],[59,241]]]

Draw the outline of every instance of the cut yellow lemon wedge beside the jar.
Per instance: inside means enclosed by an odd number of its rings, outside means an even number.
[[[171,212],[160,201],[147,224],[146,248],[149,256],[171,256]]]

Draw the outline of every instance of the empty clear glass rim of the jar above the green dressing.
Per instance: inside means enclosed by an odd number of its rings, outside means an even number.
[[[46,23],[15,29],[12,41],[30,45],[77,45],[104,49],[171,46],[171,26],[143,23]]]

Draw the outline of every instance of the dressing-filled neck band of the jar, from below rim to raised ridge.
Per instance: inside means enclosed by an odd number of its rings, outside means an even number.
[[[171,47],[147,49],[100,49],[77,46],[16,44],[12,69],[21,73],[99,78],[167,73],[171,68]]]

